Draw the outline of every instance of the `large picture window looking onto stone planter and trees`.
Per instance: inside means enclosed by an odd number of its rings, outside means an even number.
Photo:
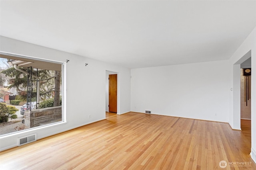
[[[0,136],[63,121],[62,63],[0,52]]]

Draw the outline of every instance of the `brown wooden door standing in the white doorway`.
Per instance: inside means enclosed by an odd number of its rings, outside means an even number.
[[[109,74],[108,111],[117,113],[117,74]]]

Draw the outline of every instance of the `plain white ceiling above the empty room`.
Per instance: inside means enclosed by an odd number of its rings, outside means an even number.
[[[0,1],[0,35],[128,68],[229,59],[256,1]]]

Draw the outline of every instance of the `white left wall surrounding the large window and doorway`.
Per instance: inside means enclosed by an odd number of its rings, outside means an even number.
[[[66,63],[66,70],[64,70],[64,74],[66,72],[66,78],[64,78],[66,81],[66,86],[64,86],[66,123],[0,137],[0,151],[16,147],[18,137],[37,133],[37,138],[41,139],[106,119],[106,70],[119,73],[119,113],[130,111],[130,69],[6,37],[0,37],[0,43],[0,51],[4,52],[64,63],[67,59],[70,60]],[[85,63],[88,65],[85,66]],[[88,115],[91,115],[91,118]]]

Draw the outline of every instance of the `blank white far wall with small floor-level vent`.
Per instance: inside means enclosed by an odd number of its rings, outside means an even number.
[[[131,76],[131,111],[228,122],[228,61],[138,68]]]

